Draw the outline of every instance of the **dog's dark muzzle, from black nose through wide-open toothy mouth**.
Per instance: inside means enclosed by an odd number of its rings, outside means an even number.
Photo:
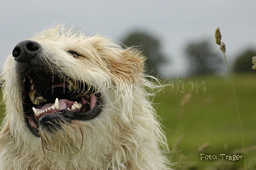
[[[36,136],[40,136],[40,128],[60,129],[62,123],[91,120],[102,111],[102,94],[82,80],[49,69],[47,65],[57,66],[47,61],[38,42],[19,42],[12,56],[17,78],[23,82],[20,91],[24,118]]]

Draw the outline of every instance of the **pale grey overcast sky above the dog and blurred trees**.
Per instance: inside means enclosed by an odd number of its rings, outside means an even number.
[[[227,57],[234,58],[246,48],[256,49],[255,0],[0,2],[0,67],[19,41],[54,23],[74,25],[89,35],[104,31],[103,35],[119,41],[128,32],[144,30],[160,39],[163,53],[172,60],[164,67],[165,75],[184,74],[184,48],[189,42],[209,38],[217,50],[217,27],[226,43]]]

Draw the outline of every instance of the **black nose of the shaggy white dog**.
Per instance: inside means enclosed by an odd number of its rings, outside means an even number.
[[[16,61],[28,62],[40,52],[40,45],[36,41],[25,40],[19,42],[12,50]]]

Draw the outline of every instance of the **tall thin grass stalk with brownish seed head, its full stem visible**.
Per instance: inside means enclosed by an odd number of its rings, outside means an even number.
[[[243,135],[243,132],[242,132],[242,124],[241,124],[241,118],[240,118],[238,103],[237,103],[237,96],[236,96],[236,91],[234,90],[234,83],[233,83],[232,76],[231,76],[231,73],[230,73],[230,69],[229,69],[229,66],[228,66],[228,61],[226,59],[226,45],[225,45],[224,42],[221,42],[221,38],[222,38],[222,36],[221,36],[221,33],[220,33],[220,28],[217,28],[216,31],[215,31],[216,44],[220,45],[220,50],[223,52],[224,59],[225,59],[225,62],[226,62],[226,67],[228,67],[228,73],[229,73],[230,81],[231,81],[232,88],[233,88],[234,99],[236,101],[237,116],[238,116],[239,123],[240,123],[240,131],[241,131],[241,137],[242,137],[242,148],[243,148],[243,154],[244,154],[244,164],[245,164],[245,170],[246,170],[244,135]]]

